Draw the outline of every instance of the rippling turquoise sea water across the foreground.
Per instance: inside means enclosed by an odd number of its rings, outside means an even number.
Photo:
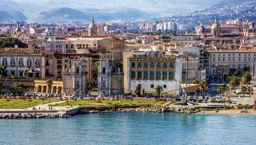
[[[256,116],[99,113],[0,119],[0,144],[254,144]]]

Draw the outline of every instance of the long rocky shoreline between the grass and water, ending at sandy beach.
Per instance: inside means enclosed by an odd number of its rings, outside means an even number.
[[[112,112],[153,112],[153,113],[198,113],[201,110],[195,107],[173,107],[173,106],[139,106],[123,108],[122,106],[95,107],[80,109],[79,113],[112,113]]]

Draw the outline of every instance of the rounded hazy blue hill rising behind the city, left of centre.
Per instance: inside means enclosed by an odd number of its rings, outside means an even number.
[[[91,18],[91,16],[86,15],[79,10],[62,7],[36,12],[26,21],[27,23],[65,23],[70,21],[90,20]]]

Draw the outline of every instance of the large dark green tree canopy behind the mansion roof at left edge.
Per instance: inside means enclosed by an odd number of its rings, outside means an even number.
[[[27,48],[27,44],[23,43],[22,41],[18,40],[17,38],[1,38],[0,39],[0,48],[10,48],[15,47],[15,45],[18,45],[19,48]]]

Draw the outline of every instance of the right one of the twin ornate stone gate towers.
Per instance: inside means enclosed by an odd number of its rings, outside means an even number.
[[[98,67],[98,95],[116,95],[124,93],[124,73],[115,66],[113,59],[100,59]]]

